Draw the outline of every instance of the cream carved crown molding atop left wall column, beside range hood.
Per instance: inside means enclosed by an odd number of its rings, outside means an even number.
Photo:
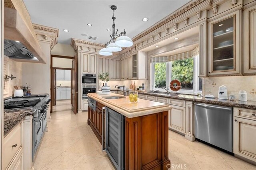
[[[36,38],[40,41],[50,42],[51,50],[58,43],[59,29],[32,23]],[[40,35],[40,36],[38,36]]]

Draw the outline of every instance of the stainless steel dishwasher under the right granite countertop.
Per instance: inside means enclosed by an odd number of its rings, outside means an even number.
[[[195,137],[232,152],[232,107],[195,103]]]

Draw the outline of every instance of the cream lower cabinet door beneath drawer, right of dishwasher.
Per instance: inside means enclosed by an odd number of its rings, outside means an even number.
[[[256,121],[234,117],[233,152],[255,161],[256,159]]]

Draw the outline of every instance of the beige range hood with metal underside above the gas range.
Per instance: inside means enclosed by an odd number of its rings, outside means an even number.
[[[4,7],[4,55],[15,61],[46,63],[26,8],[16,9]]]

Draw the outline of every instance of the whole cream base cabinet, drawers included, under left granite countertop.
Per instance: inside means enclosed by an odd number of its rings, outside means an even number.
[[[23,169],[23,122],[17,125],[3,139],[2,169]],[[20,162],[20,163],[19,163]]]

